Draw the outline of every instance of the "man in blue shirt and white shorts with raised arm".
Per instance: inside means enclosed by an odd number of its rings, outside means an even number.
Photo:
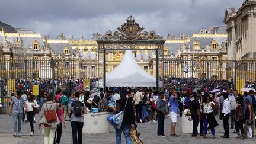
[[[176,123],[177,123],[177,117],[178,117],[178,108],[179,108],[179,104],[177,101],[177,97],[178,97],[178,93],[176,90],[172,91],[172,95],[169,98],[169,103],[170,103],[170,118],[171,118],[171,135],[170,136],[174,136],[174,137],[178,137],[178,135],[175,133],[175,128],[176,128]]]

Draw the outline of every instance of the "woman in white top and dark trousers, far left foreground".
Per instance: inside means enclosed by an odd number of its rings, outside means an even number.
[[[37,104],[37,101],[34,100],[33,95],[31,94],[31,92],[28,92],[27,97],[28,97],[28,100],[25,101],[25,104],[26,104],[25,112],[27,112],[27,120],[30,122],[30,128],[31,128],[30,136],[34,136],[34,125],[33,125],[34,111],[33,111],[33,107],[38,108],[39,105]]]

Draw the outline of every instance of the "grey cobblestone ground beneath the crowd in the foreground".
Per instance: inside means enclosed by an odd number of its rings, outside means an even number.
[[[38,115],[36,116],[38,119]],[[13,132],[13,124],[12,118],[8,115],[0,115],[0,144],[12,144],[12,143],[44,143],[43,134],[41,130],[35,128],[36,136],[30,137],[28,134],[30,133],[29,124],[22,124],[21,127],[21,137],[12,137]],[[178,121],[181,121],[181,117],[178,117]],[[138,132],[141,133],[140,139],[143,143],[256,143],[256,139],[245,139],[245,140],[236,140],[236,134],[231,133],[231,138],[223,139],[220,136],[223,135],[223,123],[218,120],[219,126],[216,128],[216,139],[211,139],[210,135],[203,139],[199,137],[199,139],[192,139],[190,134],[181,133],[181,123],[178,123],[177,133],[180,137],[170,137],[170,126],[171,121],[167,118],[165,119],[165,138],[158,138],[156,136],[157,123],[152,124],[137,124]],[[34,124],[37,127],[37,124]],[[230,130],[233,132],[233,129]],[[124,137],[122,137],[123,143]],[[71,126],[67,121],[67,128],[63,130],[62,139],[60,143],[72,143],[72,134],[71,134]],[[110,133],[107,134],[97,134],[97,135],[85,135],[83,134],[83,143],[116,143],[115,141],[115,133],[114,129],[111,127]]]

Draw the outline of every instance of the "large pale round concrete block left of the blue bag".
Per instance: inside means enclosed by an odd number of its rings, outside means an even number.
[[[84,114],[84,127],[82,133],[110,133],[110,124],[107,117],[110,116],[108,112]]]

